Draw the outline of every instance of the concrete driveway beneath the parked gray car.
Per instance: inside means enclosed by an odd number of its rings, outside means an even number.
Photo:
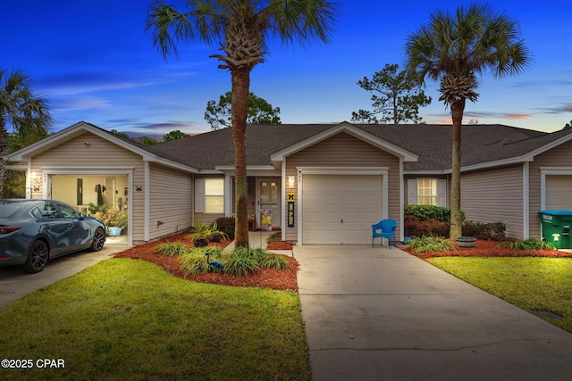
[[[114,253],[122,252],[130,246],[124,244],[105,244],[99,252],[84,250],[71,253],[63,257],[49,261],[46,268],[37,274],[28,274],[19,266],[0,268],[0,308],[9,302],[20,299],[23,295],[49,286],[57,280],[72,275],[95,265],[98,261],[106,260],[114,256]]]

